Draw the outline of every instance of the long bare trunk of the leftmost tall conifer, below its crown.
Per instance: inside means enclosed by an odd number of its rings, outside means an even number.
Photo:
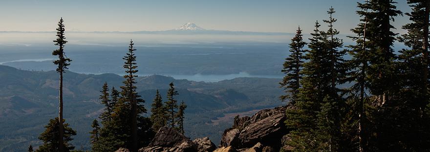
[[[60,48],[61,49],[61,48]],[[60,60],[63,59],[63,53],[60,55]],[[60,63],[60,106],[58,112],[58,151],[64,152],[64,126],[63,126],[63,65]]]

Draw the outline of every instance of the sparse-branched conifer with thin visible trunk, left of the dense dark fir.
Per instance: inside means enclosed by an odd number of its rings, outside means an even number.
[[[366,90],[370,87],[369,85],[369,62],[370,62],[370,56],[373,55],[373,52],[371,52],[369,49],[374,48],[373,44],[367,41],[368,35],[372,35],[374,33],[368,33],[368,29],[374,29],[375,27],[373,24],[369,24],[369,16],[372,15],[372,13],[369,13],[368,10],[371,8],[370,4],[366,0],[366,3],[358,3],[357,7],[360,9],[357,11],[357,14],[362,17],[360,19],[361,23],[357,25],[356,28],[351,29],[353,33],[355,33],[357,36],[350,36],[353,41],[355,41],[355,45],[349,45],[348,47],[351,48],[351,50],[348,51],[348,53],[351,55],[351,60],[348,61],[348,67],[349,71],[347,73],[348,78],[345,79],[347,82],[354,82],[351,89],[352,92],[352,100],[354,107],[357,107],[356,110],[353,111],[353,113],[358,114],[358,138],[359,138],[359,151],[365,152],[367,151],[367,139],[368,136],[366,134],[366,110],[365,110],[365,103],[366,103]],[[358,111],[358,112],[355,112]]]

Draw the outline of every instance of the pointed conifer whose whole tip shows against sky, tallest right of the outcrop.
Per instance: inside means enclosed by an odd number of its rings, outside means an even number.
[[[324,41],[323,46],[324,51],[321,53],[323,57],[327,57],[323,60],[322,69],[323,69],[323,77],[321,80],[329,80],[323,81],[321,83],[323,86],[323,101],[321,103],[321,111],[318,111],[317,117],[317,125],[318,125],[318,134],[317,138],[320,142],[321,150],[329,150],[329,151],[343,151],[341,150],[341,121],[344,116],[344,100],[339,96],[339,91],[336,86],[340,84],[340,80],[345,76],[345,65],[343,56],[346,51],[339,50],[339,48],[343,47],[343,42],[341,39],[336,36],[339,34],[339,31],[333,28],[334,23],[337,21],[333,18],[333,14],[335,13],[333,7],[327,11],[329,14],[329,20],[324,20],[328,24],[329,29],[325,32],[322,32]],[[327,60],[328,59],[328,60]]]

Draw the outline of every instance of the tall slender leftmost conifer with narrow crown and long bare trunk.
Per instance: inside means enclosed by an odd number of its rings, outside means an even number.
[[[63,18],[60,19],[60,22],[58,22],[58,28],[57,28],[57,39],[54,40],[54,44],[58,45],[59,48],[54,50],[52,52],[52,55],[58,56],[58,60],[54,61],[55,65],[58,65],[57,72],[60,73],[60,91],[59,91],[59,112],[58,117],[59,121],[63,120],[63,73],[64,70],[67,69],[67,66],[70,65],[69,62],[72,61],[69,58],[67,58],[64,54],[64,44],[67,43],[65,41],[64,37],[64,24],[63,24]],[[63,142],[63,136],[64,136],[64,126],[63,123],[60,122],[59,125],[59,142]],[[59,151],[64,152],[63,145],[59,146]]]

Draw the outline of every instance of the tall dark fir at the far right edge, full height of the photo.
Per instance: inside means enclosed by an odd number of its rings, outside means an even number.
[[[402,103],[396,105],[396,120],[401,123],[402,133],[398,137],[407,151],[422,152],[430,149],[430,121],[425,111],[429,104],[429,14],[430,0],[408,0],[412,11],[406,13],[410,23],[403,26],[408,33],[399,37],[399,41],[408,46],[399,54],[400,82],[403,87],[399,94]],[[405,139],[406,138],[406,139]]]

